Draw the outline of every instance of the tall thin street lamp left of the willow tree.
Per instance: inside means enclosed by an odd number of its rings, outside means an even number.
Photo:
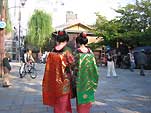
[[[19,40],[19,57],[18,60],[20,62],[20,56],[21,56],[21,7],[23,7],[25,5],[25,2],[27,0],[20,0],[20,6],[19,6],[19,36],[18,36],[18,40]]]

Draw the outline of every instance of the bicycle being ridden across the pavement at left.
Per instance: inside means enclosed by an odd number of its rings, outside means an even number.
[[[37,70],[35,68],[34,63],[24,64],[23,69],[22,70],[21,69],[22,69],[22,66],[20,66],[19,68],[20,78],[25,77],[27,74],[30,75],[32,79],[35,79],[37,77]]]

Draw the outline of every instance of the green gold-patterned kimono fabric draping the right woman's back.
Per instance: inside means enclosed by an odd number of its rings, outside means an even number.
[[[77,100],[78,104],[94,102],[94,92],[98,85],[98,70],[92,52],[76,55],[77,59]]]

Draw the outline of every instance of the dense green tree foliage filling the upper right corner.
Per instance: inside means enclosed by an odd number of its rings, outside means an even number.
[[[110,21],[96,14],[96,32],[101,32],[110,43],[113,40],[124,40],[136,46],[151,45],[151,0],[136,0],[135,4],[128,4],[115,11],[120,16]]]

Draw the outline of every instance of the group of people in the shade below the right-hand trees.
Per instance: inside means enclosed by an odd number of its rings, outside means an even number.
[[[148,58],[144,49],[134,51],[133,48],[128,48],[122,44],[118,49],[107,50],[105,57],[108,68],[107,77],[110,77],[110,73],[116,76],[115,68],[129,68],[131,72],[135,68],[139,68],[140,75],[145,76],[144,68],[147,66]]]

